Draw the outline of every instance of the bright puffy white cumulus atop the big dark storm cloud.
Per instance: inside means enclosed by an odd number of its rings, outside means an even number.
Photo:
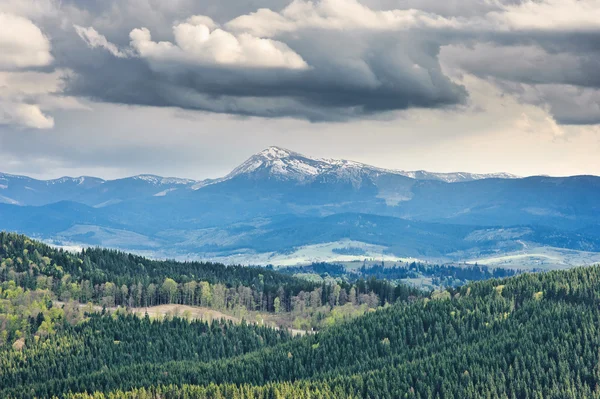
[[[215,26],[207,17],[192,17],[173,27],[174,43],[152,41],[148,29],[134,29],[130,34],[131,46],[140,57],[154,62],[288,69],[308,67],[302,57],[282,42],[249,33],[234,35]]]

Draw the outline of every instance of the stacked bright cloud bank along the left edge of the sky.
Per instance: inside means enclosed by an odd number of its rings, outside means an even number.
[[[71,72],[55,68],[50,39],[40,27],[57,10],[54,1],[0,4],[0,126],[50,129],[54,118],[49,111],[84,108],[63,95]]]

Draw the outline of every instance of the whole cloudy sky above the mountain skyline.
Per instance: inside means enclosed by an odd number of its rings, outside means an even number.
[[[0,172],[600,175],[599,43],[600,0],[0,0]]]

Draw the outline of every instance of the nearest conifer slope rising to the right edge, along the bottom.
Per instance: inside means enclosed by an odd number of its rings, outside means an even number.
[[[598,397],[599,325],[600,267],[522,274],[449,288],[431,299],[398,303],[314,335],[232,357],[72,370],[67,377],[48,367],[39,371],[39,378],[32,372],[31,383],[8,378],[0,396],[98,391],[115,398],[138,393],[200,398]],[[5,373],[11,371],[0,370]]]

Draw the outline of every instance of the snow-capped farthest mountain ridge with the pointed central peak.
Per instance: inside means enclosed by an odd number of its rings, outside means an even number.
[[[506,173],[481,175],[388,170],[353,161],[315,159],[280,147],[269,147],[250,157],[227,176],[203,181],[155,175],[138,175],[116,180],[89,176],[37,180],[27,176],[0,173],[0,203],[39,206],[59,201],[75,201],[89,206],[103,207],[131,199],[171,195],[186,189],[198,190],[236,178],[300,184],[351,183],[358,188],[364,181],[372,182],[378,178],[381,180],[382,176],[403,176],[411,180],[444,182],[516,178]]]

